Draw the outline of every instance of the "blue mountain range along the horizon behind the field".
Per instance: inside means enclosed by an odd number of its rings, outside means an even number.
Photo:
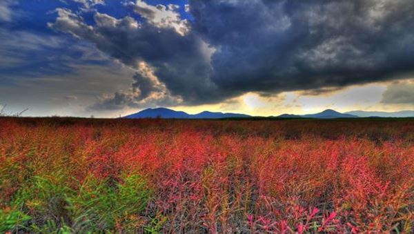
[[[253,117],[250,115],[238,114],[238,113],[221,113],[203,111],[201,113],[190,115],[184,111],[170,110],[168,108],[148,108],[141,110],[138,113],[127,115],[124,118],[127,119],[143,119],[143,118],[161,118],[161,119],[225,119],[225,118],[248,118]],[[355,110],[347,113],[339,113],[335,110],[324,110],[321,113],[308,114],[308,115],[290,115],[283,114],[276,116],[281,119],[294,119],[294,118],[313,118],[313,119],[336,119],[336,118],[358,118],[358,117],[414,117],[413,110],[404,110],[395,113],[387,113],[380,111],[362,111]]]

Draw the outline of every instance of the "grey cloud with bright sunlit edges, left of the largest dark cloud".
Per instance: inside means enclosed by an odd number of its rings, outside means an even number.
[[[170,94],[168,101],[184,98],[197,102],[211,98],[209,96],[215,88],[208,79],[211,72],[209,52],[204,41],[195,34],[181,35],[175,28],[157,28],[152,23],[137,22],[132,17],[115,19],[99,12],[95,13],[95,26],[87,25],[82,17],[68,9],[59,8],[57,14],[56,21],[49,23],[50,28],[91,41],[100,50],[132,68],[140,69],[142,62],[155,68],[155,77]],[[133,105],[144,98],[119,92],[114,95],[115,102],[108,98],[106,101],[111,104],[108,106],[122,106],[127,103]]]

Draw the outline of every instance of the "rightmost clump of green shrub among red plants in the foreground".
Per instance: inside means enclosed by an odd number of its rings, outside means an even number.
[[[95,177],[81,184],[77,195],[68,197],[72,228],[78,232],[113,231],[139,226],[139,214],[144,211],[152,191],[138,175],[124,177],[115,188]],[[121,231],[121,230],[119,230]],[[125,231],[125,230],[124,230]]]

